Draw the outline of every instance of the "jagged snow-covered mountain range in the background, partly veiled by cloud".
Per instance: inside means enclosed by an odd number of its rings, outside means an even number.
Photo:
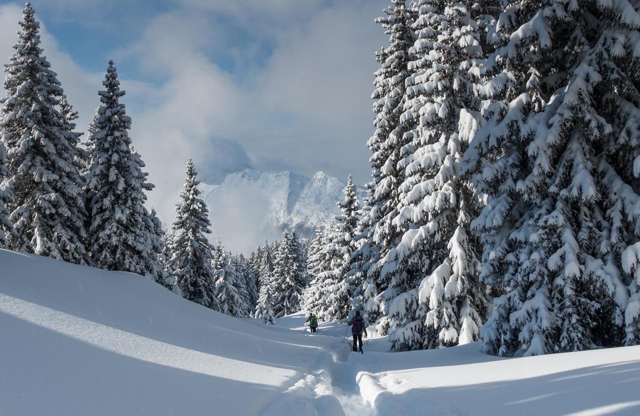
[[[264,173],[255,169],[227,175],[220,184],[200,189],[211,212],[212,231],[232,250],[249,252],[264,238],[276,240],[285,228],[301,238],[315,235],[340,213],[346,183],[318,172],[307,178],[291,171]],[[364,188],[358,188],[360,199]],[[258,235],[256,235],[258,233]]]

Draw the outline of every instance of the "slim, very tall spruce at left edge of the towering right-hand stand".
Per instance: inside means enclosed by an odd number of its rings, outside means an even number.
[[[400,150],[404,145],[406,126],[400,123],[406,93],[404,81],[410,76],[408,71],[408,50],[413,45],[412,30],[415,11],[406,6],[404,0],[392,0],[393,7],[385,10],[385,17],[376,19],[389,35],[389,46],[376,54],[380,69],[375,73],[373,111],[376,113],[374,135],[367,141],[367,148],[373,153],[370,159],[374,183],[374,201],[371,207],[372,239],[378,248],[372,254],[371,266],[367,273],[376,281],[375,304],[380,306],[381,314],[386,313],[384,298],[380,295],[390,286],[390,277],[381,277],[380,259],[386,256],[389,249],[399,242],[401,234],[392,220],[397,215],[396,206],[399,198],[399,187],[404,180],[404,173],[398,168]],[[385,334],[388,319],[383,316],[379,322],[381,334]]]

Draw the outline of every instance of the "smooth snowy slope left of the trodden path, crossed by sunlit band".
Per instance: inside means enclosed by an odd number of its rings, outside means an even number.
[[[255,415],[320,351],[140,275],[0,265],[0,415]]]

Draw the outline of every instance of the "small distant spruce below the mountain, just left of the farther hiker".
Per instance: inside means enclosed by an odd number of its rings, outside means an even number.
[[[301,265],[296,263],[296,244],[289,231],[282,233],[282,241],[273,264],[273,313],[276,318],[300,311],[303,279],[306,279]]]

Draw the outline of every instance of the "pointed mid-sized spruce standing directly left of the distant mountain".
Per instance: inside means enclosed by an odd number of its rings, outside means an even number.
[[[170,265],[182,297],[216,309],[218,303],[212,292],[214,269],[211,265],[211,244],[207,234],[209,210],[200,198],[197,173],[189,159],[184,189],[175,204],[176,218],[172,226]]]

